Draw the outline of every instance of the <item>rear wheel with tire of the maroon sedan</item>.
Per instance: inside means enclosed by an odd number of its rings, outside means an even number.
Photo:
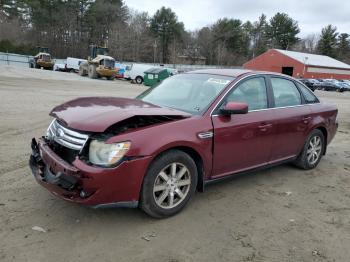
[[[317,142],[319,141],[319,142]],[[315,145],[315,146],[312,146]],[[309,170],[315,168],[320,162],[325,150],[325,138],[319,129],[313,130],[306,139],[303,151],[300,153],[295,165],[301,169]],[[310,157],[311,155],[311,157]]]

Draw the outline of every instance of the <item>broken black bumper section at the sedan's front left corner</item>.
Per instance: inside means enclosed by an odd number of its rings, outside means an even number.
[[[39,146],[35,138],[31,143],[32,154],[29,159],[29,166],[36,179],[52,185],[57,185],[65,190],[73,191],[78,185],[78,179],[73,176],[68,176],[62,172],[54,174],[47,167],[40,156]]]

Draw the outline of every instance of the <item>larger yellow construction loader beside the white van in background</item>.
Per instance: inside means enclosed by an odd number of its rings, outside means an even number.
[[[108,56],[108,48],[90,45],[90,56],[87,61],[79,65],[79,75],[88,75],[90,78],[106,77],[108,80],[112,80],[117,73],[115,59]]]

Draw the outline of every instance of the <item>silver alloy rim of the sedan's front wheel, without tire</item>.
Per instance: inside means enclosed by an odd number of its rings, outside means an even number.
[[[156,204],[164,209],[179,205],[189,193],[191,174],[181,163],[171,163],[157,175],[153,185],[153,197]]]

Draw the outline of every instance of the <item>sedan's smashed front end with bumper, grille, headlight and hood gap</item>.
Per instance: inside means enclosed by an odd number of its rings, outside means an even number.
[[[89,206],[122,203],[136,207],[151,156],[127,154],[132,141],[107,140],[183,118],[134,115],[103,132],[72,129],[55,118],[46,136],[32,139],[29,164],[38,183],[65,200]]]

